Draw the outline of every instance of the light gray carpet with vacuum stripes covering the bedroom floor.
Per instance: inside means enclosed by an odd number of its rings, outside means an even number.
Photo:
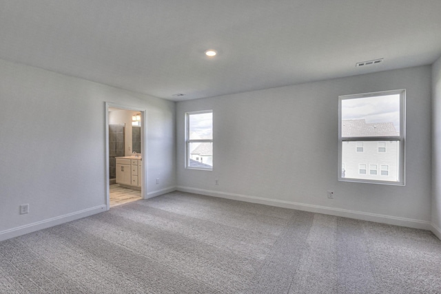
[[[441,293],[441,241],[174,192],[0,242],[0,293]]]

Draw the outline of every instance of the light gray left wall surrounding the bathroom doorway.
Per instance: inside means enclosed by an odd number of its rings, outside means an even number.
[[[105,101],[147,109],[147,193],[174,189],[174,103],[0,60],[0,240],[105,210]]]

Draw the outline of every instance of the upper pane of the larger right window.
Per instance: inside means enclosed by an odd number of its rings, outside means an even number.
[[[400,94],[342,99],[342,137],[400,135]]]

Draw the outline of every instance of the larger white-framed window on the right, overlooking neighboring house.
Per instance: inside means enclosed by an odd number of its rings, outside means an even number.
[[[338,180],[404,185],[405,90],[340,96],[338,111]]]

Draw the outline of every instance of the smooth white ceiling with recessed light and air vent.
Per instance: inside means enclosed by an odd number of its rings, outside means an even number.
[[[0,0],[0,40],[0,59],[183,101],[431,64],[441,0]]]

